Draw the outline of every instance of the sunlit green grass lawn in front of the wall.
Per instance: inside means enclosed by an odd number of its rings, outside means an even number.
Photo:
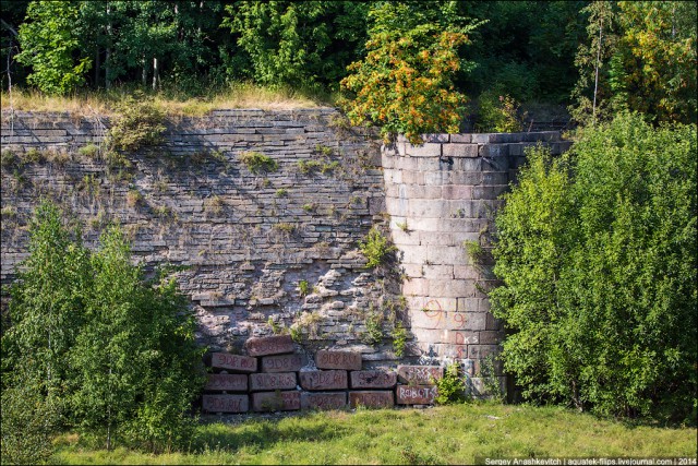
[[[192,453],[88,450],[57,439],[58,464],[470,464],[476,457],[695,457],[696,429],[601,420],[558,407],[491,403],[312,413],[213,422]]]

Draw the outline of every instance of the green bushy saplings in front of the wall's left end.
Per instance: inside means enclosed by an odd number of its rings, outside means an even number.
[[[203,386],[195,322],[173,280],[149,283],[117,227],[91,253],[43,203],[11,288],[3,397],[31,381],[60,423],[159,451],[182,445]],[[7,392],[13,396],[13,392]]]

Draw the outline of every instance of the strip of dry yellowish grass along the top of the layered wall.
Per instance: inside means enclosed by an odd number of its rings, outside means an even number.
[[[70,96],[48,96],[37,91],[14,88],[12,95],[0,95],[2,110],[67,111],[77,117],[112,116],[118,104],[132,93],[131,88],[108,92],[83,92]],[[210,92],[201,97],[154,93],[155,105],[168,116],[201,117],[215,109],[261,108],[288,110],[334,106],[336,96],[322,92],[293,89],[291,87],[262,86],[251,83],[233,83],[227,88]]]

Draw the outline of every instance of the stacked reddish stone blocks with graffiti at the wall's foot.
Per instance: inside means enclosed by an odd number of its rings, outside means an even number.
[[[362,370],[358,351],[318,350],[304,363],[288,335],[250,338],[248,355],[214,353],[202,407],[207,413],[393,407],[434,403],[435,366]]]

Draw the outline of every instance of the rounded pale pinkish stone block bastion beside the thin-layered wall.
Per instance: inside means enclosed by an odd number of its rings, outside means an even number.
[[[402,294],[422,361],[457,359],[474,375],[504,337],[485,295],[494,284],[489,250],[497,196],[514,180],[527,146],[559,154],[570,142],[557,131],[432,134],[424,141],[413,146],[398,139],[382,150]],[[482,389],[481,380],[471,380]]]

